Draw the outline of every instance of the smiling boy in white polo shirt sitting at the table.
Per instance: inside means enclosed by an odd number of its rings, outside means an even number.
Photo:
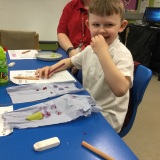
[[[120,132],[128,108],[129,89],[133,82],[133,59],[130,51],[119,41],[127,21],[121,0],[93,0],[86,21],[91,43],[77,55],[51,67],[38,69],[36,74],[48,77],[73,65],[82,69],[83,86],[102,107],[102,114],[111,126]]]

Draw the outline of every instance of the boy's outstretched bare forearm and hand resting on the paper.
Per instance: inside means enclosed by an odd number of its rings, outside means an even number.
[[[71,59],[66,58],[52,66],[45,66],[43,68],[37,69],[35,74],[38,75],[40,78],[45,77],[48,79],[52,76],[52,74],[59,72],[59,71],[66,70],[71,67],[73,67],[73,64],[71,63]]]

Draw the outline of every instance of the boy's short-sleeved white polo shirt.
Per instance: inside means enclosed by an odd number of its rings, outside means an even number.
[[[131,77],[133,82],[134,64],[132,55],[118,38],[109,45],[109,53],[121,73],[124,76]],[[77,69],[82,69],[84,88],[102,107],[102,114],[110,125],[119,132],[128,109],[129,90],[122,97],[116,97],[113,94],[105,82],[102,67],[91,46],[71,57],[71,61]]]

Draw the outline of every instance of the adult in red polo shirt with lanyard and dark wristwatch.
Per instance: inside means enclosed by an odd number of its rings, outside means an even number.
[[[60,47],[68,53],[69,57],[90,44],[91,35],[85,21],[88,19],[91,1],[72,0],[63,9],[57,27],[57,37]]]

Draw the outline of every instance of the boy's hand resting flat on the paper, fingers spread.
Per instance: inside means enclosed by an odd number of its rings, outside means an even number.
[[[51,71],[51,67],[46,66],[40,69],[37,69],[35,72],[35,75],[38,75],[39,78],[50,78],[50,76],[52,74],[49,74],[49,72]]]

